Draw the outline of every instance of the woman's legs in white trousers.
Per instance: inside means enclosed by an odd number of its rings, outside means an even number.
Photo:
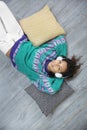
[[[0,50],[6,54],[15,41],[22,37],[23,31],[3,1],[0,1],[0,29]]]

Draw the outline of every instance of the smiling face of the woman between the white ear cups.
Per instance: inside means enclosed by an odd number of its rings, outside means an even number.
[[[48,66],[48,71],[55,73],[63,73],[67,70],[67,62],[63,60],[52,60]]]

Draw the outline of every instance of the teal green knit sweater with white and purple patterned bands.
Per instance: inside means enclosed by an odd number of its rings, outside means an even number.
[[[14,46],[12,50],[14,50]],[[12,52],[10,56],[13,56],[14,66],[31,79],[39,90],[48,94],[54,94],[60,90],[63,78],[49,77],[45,63],[60,55],[66,56],[67,43],[63,35],[38,47],[33,46],[32,42],[26,38],[20,39],[14,54]]]

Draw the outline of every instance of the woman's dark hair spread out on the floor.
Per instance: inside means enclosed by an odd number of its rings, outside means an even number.
[[[63,55],[62,55],[62,57],[63,57],[63,61],[67,62],[67,70],[66,70],[66,72],[61,73],[61,74],[63,75],[64,78],[71,78],[74,75],[76,75],[76,73],[78,72],[78,70],[81,67],[81,64],[77,64],[77,62],[80,60],[81,57],[76,58],[76,56],[74,56],[74,55],[72,56],[71,59],[69,59]],[[53,73],[51,73],[49,76],[54,77],[55,75]]]

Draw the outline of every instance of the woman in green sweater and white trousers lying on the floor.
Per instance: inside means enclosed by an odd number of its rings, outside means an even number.
[[[73,77],[80,68],[80,65],[76,65],[75,57],[71,60],[66,58],[67,43],[64,36],[35,47],[23,34],[3,1],[0,7],[0,50],[6,54],[11,48],[7,56],[13,66],[31,79],[39,90],[48,94],[59,91],[64,78]]]

